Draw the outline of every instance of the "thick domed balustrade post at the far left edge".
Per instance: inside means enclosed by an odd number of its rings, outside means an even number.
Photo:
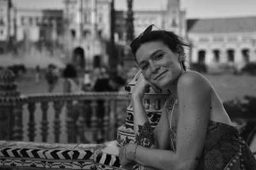
[[[22,139],[22,101],[15,74],[0,70],[0,140]]]

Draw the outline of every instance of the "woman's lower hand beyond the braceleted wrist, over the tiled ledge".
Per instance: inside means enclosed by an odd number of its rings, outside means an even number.
[[[129,143],[128,145],[125,145],[125,146],[122,146],[119,150],[119,154],[118,154],[118,157],[119,157],[119,160],[120,160],[120,164],[122,165],[123,168],[125,169],[132,169],[132,167],[134,166],[134,164],[136,164],[136,162],[133,162],[133,160],[129,160],[127,158],[127,153],[128,152],[131,152],[129,150],[132,149],[132,147],[129,147],[131,146],[132,143]]]

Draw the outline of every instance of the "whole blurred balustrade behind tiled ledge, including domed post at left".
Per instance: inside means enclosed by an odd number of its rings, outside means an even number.
[[[97,117],[99,100],[103,101],[103,107],[106,111],[102,120]],[[122,110],[126,110],[128,104],[129,96],[126,92],[20,95],[15,84],[15,75],[12,71],[3,69],[0,71],[0,140],[22,141],[25,129],[22,120],[24,114],[27,114],[28,141],[35,141],[36,127],[40,127],[41,141],[47,142],[49,124],[53,122],[54,142],[59,143],[61,123],[63,124],[60,114],[64,109],[66,112],[64,121],[67,129],[67,143],[77,143],[77,137],[81,143],[97,143],[99,138],[102,138],[103,141],[109,141],[115,139],[117,127],[122,125],[122,114],[125,113]],[[52,106],[53,113],[49,111],[50,106]],[[24,109],[25,107],[26,109]],[[74,116],[74,109],[76,109],[76,117]],[[24,110],[28,113],[24,113]],[[40,125],[36,125],[36,118],[38,119],[39,116],[36,113],[38,112],[41,116]],[[49,120],[50,114],[54,114],[53,120]],[[86,117],[88,114],[90,117]],[[90,120],[86,120],[86,118]],[[91,141],[88,141],[84,136],[86,121],[91,123]],[[104,136],[99,137],[99,132]],[[110,132],[112,133],[110,134]]]

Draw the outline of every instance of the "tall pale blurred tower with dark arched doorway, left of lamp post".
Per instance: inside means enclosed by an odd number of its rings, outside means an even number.
[[[108,65],[109,1],[65,0],[64,4],[66,62],[86,70]]]

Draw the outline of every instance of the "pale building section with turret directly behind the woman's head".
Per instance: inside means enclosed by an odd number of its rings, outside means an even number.
[[[116,11],[116,25],[119,32],[118,38],[125,39],[125,34],[120,30],[121,25],[125,27],[125,13],[123,11]],[[156,29],[165,29],[173,31],[182,38],[186,38],[186,11],[180,10],[179,0],[168,0],[166,9],[163,10],[143,10],[134,11],[134,36],[138,36],[145,30],[148,25],[156,25]],[[125,29],[123,29],[124,31]],[[124,37],[122,37],[124,36]]]

